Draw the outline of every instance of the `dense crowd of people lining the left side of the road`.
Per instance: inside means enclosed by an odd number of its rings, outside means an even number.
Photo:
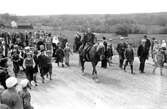
[[[44,76],[52,79],[52,62],[70,66],[72,50],[67,39],[45,31],[0,33],[0,109],[33,109],[27,88],[38,86],[37,74],[42,83]],[[64,65],[65,60],[65,65]],[[12,62],[14,76],[8,69]],[[25,75],[21,82],[19,75]],[[22,90],[18,92],[17,86]],[[2,104],[2,105],[1,105]]]

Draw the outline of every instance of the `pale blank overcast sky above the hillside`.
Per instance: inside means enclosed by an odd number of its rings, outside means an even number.
[[[167,12],[167,0],[0,0],[0,13],[16,15]]]

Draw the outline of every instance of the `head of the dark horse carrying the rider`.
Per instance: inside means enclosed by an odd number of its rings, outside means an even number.
[[[96,52],[97,52],[97,55],[100,57],[100,60],[103,60],[105,57],[104,51],[105,51],[105,47],[104,47],[103,43],[99,43],[97,45]]]

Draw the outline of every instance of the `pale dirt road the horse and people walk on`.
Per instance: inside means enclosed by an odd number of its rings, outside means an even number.
[[[167,109],[167,77],[151,73],[152,66],[146,66],[146,74],[135,75],[124,72],[116,64],[108,69],[97,67],[99,83],[91,79],[91,64],[86,63],[86,75],[78,66],[78,56],[71,57],[69,68],[53,64],[53,80],[45,84],[39,79],[39,86],[31,90],[35,109]],[[135,63],[138,60],[135,59]],[[128,71],[128,69],[127,69]],[[166,70],[164,71],[166,72]]]

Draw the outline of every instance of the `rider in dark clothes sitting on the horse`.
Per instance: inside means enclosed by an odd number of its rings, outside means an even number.
[[[83,59],[85,59],[85,53],[86,51],[92,47],[97,42],[96,36],[91,32],[90,28],[88,28],[88,31],[84,34],[82,39],[82,52],[81,56],[83,56]]]

